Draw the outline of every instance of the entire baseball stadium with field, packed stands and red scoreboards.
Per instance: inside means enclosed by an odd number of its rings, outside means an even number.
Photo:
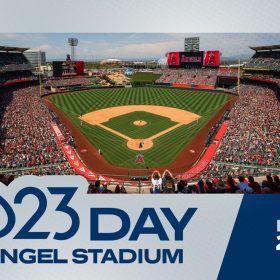
[[[279,193],[280,45],[154,62],[52,61],[0,46],[0,181],[81,175],[88,193]],[[71,41],[72,40],[72,41]],[[193,48],[193,49],[192,49]],[[108,66],[108,64],[110,66]]]

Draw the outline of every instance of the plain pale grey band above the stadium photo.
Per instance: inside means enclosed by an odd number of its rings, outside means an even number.
[[[1,0],[0,32],[279,32],[279,0]]]

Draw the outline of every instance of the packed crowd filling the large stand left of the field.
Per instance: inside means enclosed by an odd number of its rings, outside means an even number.
[[[66,158],[49,125],[37,87],[0,94],[0,168],[60,164]]]

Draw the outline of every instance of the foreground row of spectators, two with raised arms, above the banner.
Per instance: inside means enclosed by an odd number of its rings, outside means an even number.
[[[97,180],[89,184],[87,193],[124,194],[127,191],[130,192],[126,188],[129,189],[124,185],[114,184],[110,186],[110,182]],[[148,193],[152,194],[271,194],[280,193],[280,179],[277,175],[266,174],[259,182],[252,175],[225,175],[221,177],[220,174],[217,176],[212,174],[209,177],[201,176],[196,181],[188,182],[187,180],[176,180],[168,170],[165,170],[162,175],[155,170],[151,175],[151,185],[148,186],[148,190]],[[136,191],[139,193],[139,190]]]

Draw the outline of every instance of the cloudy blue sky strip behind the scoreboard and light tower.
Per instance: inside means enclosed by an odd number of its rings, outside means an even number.
[[[47,60],[70,53],[68,38],[78,38],[76,58],[159,59],[183,51],[184,38],[200,37],[200,50],[220,50],[223,58],[247,58],[249,46],[280,45],[280,33],[0,33],[0,45],[46,52]]]

